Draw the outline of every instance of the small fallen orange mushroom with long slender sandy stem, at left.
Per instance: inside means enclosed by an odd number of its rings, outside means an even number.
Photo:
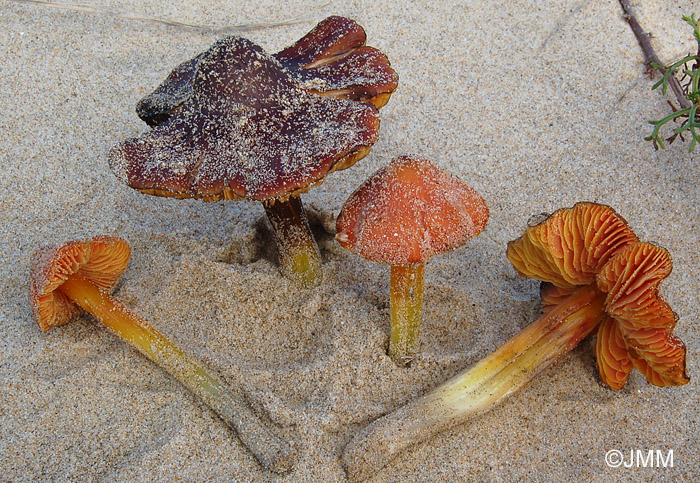
[[[67,324],[83,310],[89,312],[199,396],[237,432],[263,467],[276,473],[289,471],[295,458],[293,448],[266,428],[242,390],[224,385],[211,369],[109,294],[129,255],[124,240],[107,236],[37,250],[29,301],[39,327],[48,331]]]

